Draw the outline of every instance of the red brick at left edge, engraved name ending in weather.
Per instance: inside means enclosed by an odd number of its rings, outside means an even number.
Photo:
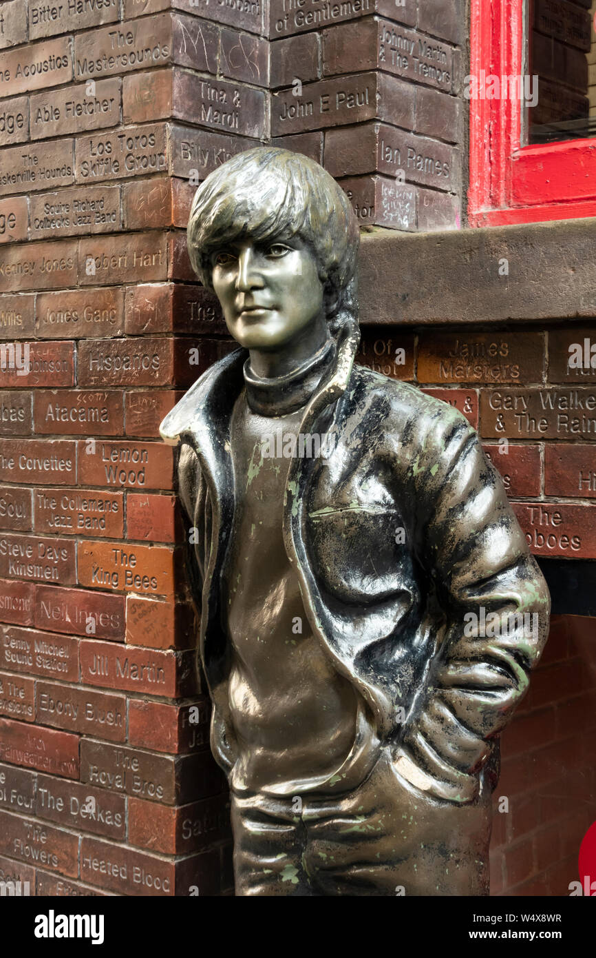
[[[0,761],[77,779],[78,736],[0,719]]]

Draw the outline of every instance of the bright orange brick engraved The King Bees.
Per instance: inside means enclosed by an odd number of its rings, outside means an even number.
[[[78,542],[77,559],[81,585],[124,589],[142,595],[173,596],[173,552],[165,546]]]

